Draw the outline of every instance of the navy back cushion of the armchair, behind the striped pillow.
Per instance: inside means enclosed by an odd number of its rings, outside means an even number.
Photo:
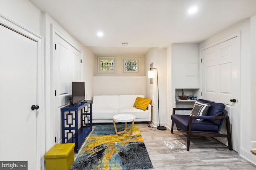
[[[225,109],[225,105],[222,103],[210,102],[208,100],[203,100],[203,99],[199,99],[198,101],[208,103],[211,105],[207,113],[208,116],[223,116],[225,114],[223,113]],[[207,119],[207,121],[214,123],[216,125],[220,125],[221,123],[221,119]]]

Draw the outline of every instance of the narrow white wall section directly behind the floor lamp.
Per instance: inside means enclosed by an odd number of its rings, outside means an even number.
[[[159,86],[159,113],[160,125],[166,126],[167,117],[167,66],[166,66],[166,48],[152,48],[145,56],[145,71],[150,70],[150,64],[154,63],[154,68],[158,70],[158,86]],[[146,80],[146,96],[152,99],[152,123],[158,126],[158,94],[157,94],[157,78],[156,69],[154,70],[154,84],[150,84],[149,78]],[[147,77],[146,73],[146,77]]]

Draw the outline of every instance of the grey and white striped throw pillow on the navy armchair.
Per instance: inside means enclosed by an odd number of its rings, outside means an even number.
[[[191,116],[205,116],[208,113],[209,107],[211,105],[208,103],[204,103],[201,101],[196,101],[194,104],[194,107],[192,109]],[[204,119],[196,119],[198,121],[203,121]]]

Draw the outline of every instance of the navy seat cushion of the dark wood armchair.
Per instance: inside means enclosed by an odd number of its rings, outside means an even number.
[[[171,119],[175,122],[176,126],[188,132],[188,120],[189,115],[171,115]],[[209,133],[218,133],[218,125],[210,123],[208,121],[198,121],[196,119],[192,120],[191,131],[202,132],[208,131]]]

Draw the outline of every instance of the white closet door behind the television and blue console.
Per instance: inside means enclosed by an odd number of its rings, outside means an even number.
[[[55,135],[56,142],[60,142],[60,108],[70,104],[72,81],[81,81],[81,53],[57,34],[54,35],[54,40]]]

